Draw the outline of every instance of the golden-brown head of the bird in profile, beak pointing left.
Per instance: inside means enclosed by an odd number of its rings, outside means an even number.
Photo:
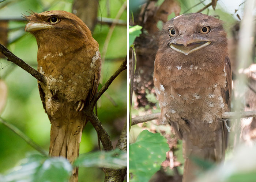
[[[84,43],[94,42],[90,29],[77,16],[66,11],[45,11],[24,16],[28,23],[26,32],[37,39],[38,47],[69,45],[77,48]]]

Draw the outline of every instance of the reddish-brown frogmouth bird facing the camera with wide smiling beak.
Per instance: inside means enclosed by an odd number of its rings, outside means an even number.
[[[154,84],[160,120],[182,139],[183,182],[199,168],[192,158],[225,157],[230,110],[231,67],[222,21],[201,13],[180,15],[163,25],[155,58]]]

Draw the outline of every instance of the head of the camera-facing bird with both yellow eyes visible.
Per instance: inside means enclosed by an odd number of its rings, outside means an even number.
[[[167,21],[159,44],[159,49],[189,57],[219,54],[221,49],[226,50],[227,39],[221,20],[202,13],[189,13]]]

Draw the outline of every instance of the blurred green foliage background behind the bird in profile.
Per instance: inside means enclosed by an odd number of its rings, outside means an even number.
[[[2,1],[2,0],[1,0]],[[0,2],[1,2],[0,1]],[[76,14],[91,29],[102,55],[101,80],[104,84],[127,55],[127,11],[120,10],[125,0],[6,0],[0,3],[0,43],[20,59],[37,69],[37,43],[24,31],[22,14],[48,10],[64,10]],[[110,26],[118,19],[115,27]],[[106,37],[110,39],[106,40]],[[127,72],[114,80],[98,102],[98,118],[116,146],[127,121]],[[0,116],[18,127],[41,146],[49,150],[50,122],[39,98],[37,80],[0,54]],[[37,154],[31,146],[0,124],[0,174],[8,173],[29,154]],[[97,133],[86,125],[80,143],[80,154],[98,150]],[[93,174],[93,175],[92,175]],[[79,181],[101,182],[102,169],[79,168]]]

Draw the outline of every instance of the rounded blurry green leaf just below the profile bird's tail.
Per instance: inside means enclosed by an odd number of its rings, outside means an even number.
[[[34,182],[68,182],[71,171],[72,166],[67,159],[63,157],[49,158],[37,169]]]

